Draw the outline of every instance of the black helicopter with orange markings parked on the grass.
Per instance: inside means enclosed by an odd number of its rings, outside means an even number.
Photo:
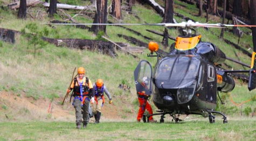
[[[154,71],[147,60],[141,60],[134,70],[136,90],[145,91],[159,109],[158,113],[148,117],[161,115],[160,123],[163,123],[164,116],[169,114],[175,122],[179,122],[182,120],[176,115],[195,114],[209,117],[209,122],[215,123],[213,114],[220,114],[223,123],[227,123],[227,117],[216,111],[218,92],[228,93],[234,89],[235,82],[229,73],[249,73],[248,90],[255,89],[256,53],[252,53],[250,70],[223,70],[218,65],[225,61],[225,54],[214,44],[203,42],[201,35],[191,34],[191,27],[230,25],[188,21],[165,26],[185,27],[186,34],[178,36],[173,50],[164,56],[158,53],[158,44],[150,42],[148,48],[151,53],[148,57],[157,57]],[[153,55],[154,52],[156,55]],[[150,82],[147,87],[143,86],[145,77]],[[146,122],[145,115],[143,121]]]

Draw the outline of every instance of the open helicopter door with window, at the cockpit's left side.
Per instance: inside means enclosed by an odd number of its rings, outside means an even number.
[[[134,81],[137,91],[145,91],[147,95],[151,95],[152,91],[152,67],[146,60],[139,62],[134,70]]]

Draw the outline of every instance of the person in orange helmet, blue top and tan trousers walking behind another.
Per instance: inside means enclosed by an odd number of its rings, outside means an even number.
[[[105,102],[104,98],[104,92],[108,96],[109,104],[112,103],[112,97],[110,93],[107,90],[107,87],[104,86],[103,80],[98,79],[96,83],[93,86],[94,93],[95,93],[95,102],[93,103],[93,112],[95,117],[95,123],[100,123],[100,116],[101,116],[101,107],[103,106],[103,103]]]

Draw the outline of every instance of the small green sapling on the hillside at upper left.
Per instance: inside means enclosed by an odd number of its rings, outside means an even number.
[[[30,33],[27,33],[27,30]],[[35,58],[37,50],[47,45],[47,43],[42,38],[44,36],[47,36],[49,34],[49,31],[46,29],[46,27],[44,27],[43,30],[39,30],[38,26],[35,23],[30,23],[27,24],[21,32],[23,37],[29,39],[28,44],[33,46],[33,54]]]

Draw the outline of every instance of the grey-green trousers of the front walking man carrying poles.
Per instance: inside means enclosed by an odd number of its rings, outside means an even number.
[[[85,100],[85,104],[81,106],[81,101],[79,99],[74,100],[74,108],[75,108],[75,123],[81,124],[81,119],[85,124],[89,121],[89,104],[88,100]]]

